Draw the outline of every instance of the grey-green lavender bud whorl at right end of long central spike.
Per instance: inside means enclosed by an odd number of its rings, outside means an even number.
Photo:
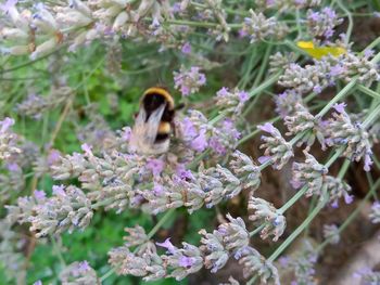
[[[253,160],[238,150],[231,154],[229,167],[233,174],[240,180],[243,189],[255,191],[261,184],[261,170]]]

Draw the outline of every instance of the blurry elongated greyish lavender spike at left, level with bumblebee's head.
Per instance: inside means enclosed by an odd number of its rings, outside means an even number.
[[[69,87],[60,87],[52,89],[49,95],[42,96],[35,93],[16,105],[16,112],[23,116],[29,116],[39,119],[47,111],[63,105],[73,95]]]

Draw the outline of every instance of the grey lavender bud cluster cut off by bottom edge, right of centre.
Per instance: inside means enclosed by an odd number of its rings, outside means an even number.
[[[253,247],[241,248],[236,258],[243,268],[244,278],[257,275],[261,284],[280,284],[277,268]]]

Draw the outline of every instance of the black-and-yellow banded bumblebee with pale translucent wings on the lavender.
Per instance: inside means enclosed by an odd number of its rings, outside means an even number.
[[[175,102],[163,87],[149,88],[141,96],[130,145],[141,154],[167,152],[174,132]]]

